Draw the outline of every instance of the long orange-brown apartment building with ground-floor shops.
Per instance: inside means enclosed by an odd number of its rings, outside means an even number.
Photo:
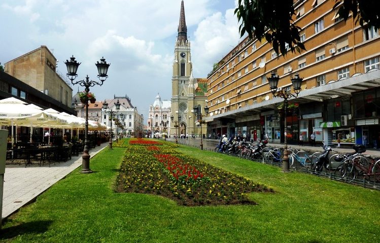
[[[300,133],[329,144],[380,142],[379,30],[339,18],[334,1],[295,1],[295,23],[306,51],[278,56],[265,40],[241,41],[208,75],[208,134],[240,134],[251,141],[268,134],[284,141],[283,99],[273,97],[267,77],[280,77],[279,91],[292,92],[291,78],[303,78],[289,99],[288,142]],[[281,110],[280,110],[281,111]],[[368,132],[371,132],[369,136]]]

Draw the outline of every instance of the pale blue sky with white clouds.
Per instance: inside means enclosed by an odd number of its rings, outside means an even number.
[[[233,0],[184,0],[193,73],[206,78],[239,42]],[[111,62],[109,78],[92,87],[97,99],[128,95],[144,115],[157,93],[171,97],[172,61],[181,0],[2,0],[0,62],[47,46],[66,73],[74,55],[78,78],[97,79],[94,63]],[[83,88],[80,87],[80,90]],[[78,86],[73,87],[73,93]]]

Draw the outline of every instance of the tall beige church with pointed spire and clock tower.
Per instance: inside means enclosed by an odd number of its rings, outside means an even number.
[[[200,135],[200,125],[194,116],[193,108],[200,106],[204,115],[207,81],[193,78],[192,64],[190,41],[187,39],[185,8],[182,1],[171,79],[171,116],[174,117],[174,122],[170,122],[171,135],[176,133],[174,127],[176,122],[179,125],[178,134]],[[181,119],[178,119],[179,117]],[[205,133],[204,124],[203,127],[202,132]]]

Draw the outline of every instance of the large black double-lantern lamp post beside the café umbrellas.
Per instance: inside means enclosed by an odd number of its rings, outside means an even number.
[[[98,71],[98,79],[100,82],[89,80],[88,75],[86,76],[86,80],[76,81],[74,80],[78,77],[77,71],[78,67],[81,64],[80,62],[77,62],[75,60],[75,57],[70,57],[70,61],[66,60],[64,62],[67,67],[67,74],[66,76],[68,79],[71,80],[71,83],[73,85],[79,84],[82,87],[85,87],[86,92],[86,98],[85,98],[85,105],[86,105],[86,122],[85,122],[85,134],[84,134],[84,149],[83,149],[83,155],[82,155],[82,170],[81,173],[91,173],[92,170],[90,169],[90,154],[88,153],[88,92],[90,92],[90,87],[93,87],[95,85],[102,85],[104,81],[108,78],[107,72],[108,68],[110,67],[110,63],[106,62],[106,59],[104,57],[100,58],[100,62],[97,61],[95,63]]]

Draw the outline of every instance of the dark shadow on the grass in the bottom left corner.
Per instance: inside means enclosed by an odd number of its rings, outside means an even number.
[[[20,223],[8,228],[0,230],[0,239],[11,239],[17,235],[30,234],[30,233],[44,233],[49,229],[53,223],[52,220],[40,220],[27,223]]]

